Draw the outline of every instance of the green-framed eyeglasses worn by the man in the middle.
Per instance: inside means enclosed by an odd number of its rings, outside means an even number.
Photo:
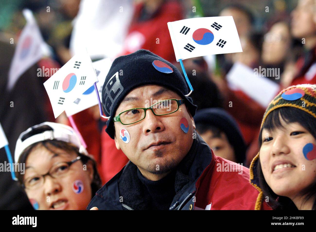
[[[146,117],[146,110],[151,110],[154,115],[172,114],[179,110],[179,106],[184,103],[183,99],[167,99],[157,102],[146,108],[133,108],[119,113],[113,118],[113,122],[121,122],[123,125],[139,122]]]

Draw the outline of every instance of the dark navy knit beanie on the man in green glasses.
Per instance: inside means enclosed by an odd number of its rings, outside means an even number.
[[[197,106],[192,103],[185,78],[167,60],[148,50],[138,50],[116,58],[108,72],[102,88],[102,107],[105,115],[111,116],[106,122],[106,133],[114,139],[113,117],[120,102],[133,89],[142,85],[162,85],[175,91],[188,106],[192,116]],[[140,106],[142,107],[142,106]],[[120,123],[120,122],[118,122]]]

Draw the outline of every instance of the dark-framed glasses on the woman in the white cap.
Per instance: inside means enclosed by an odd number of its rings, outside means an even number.
[[[50,176],[52,178],[60,178],[67,174],[70,169],[70,166],[76,161],[80,160],[81,157],[78,156],[76,159],[69,162],[58,162],[54,164],[49,171],[44,175],[33,175],[25,179],[22,183],[22,186],[29,190],[39,189],[44,185],[45,176]]]

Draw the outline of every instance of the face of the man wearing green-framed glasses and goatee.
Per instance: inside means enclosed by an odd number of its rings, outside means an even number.
[[[144,85],[129,92],[115,112],[137,107],[149,107],[151,104],[167,100],[182,99],[177,93],[159,85]],[[189,130],[185,133],[180,128],[180,120],[188,121]],[[175,168],[191,148],[195,129],[193,117],[185,104],[179,110],[163,116],[156,116],[149,109],[142,121],[123,125],[115,122],[115,144],[144,173],[166,174]],[[125,143],[120,137],[120,130],[126,129],[130,141]],[[155,145],[153,145],[155,144]]]

